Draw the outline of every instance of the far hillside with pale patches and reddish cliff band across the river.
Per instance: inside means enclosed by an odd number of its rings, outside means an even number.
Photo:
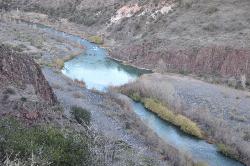
[[[249,85],[248,0],[4,2],[6,10],[66,18],[104,35],[111,56],[128,63],[236,88]]]

